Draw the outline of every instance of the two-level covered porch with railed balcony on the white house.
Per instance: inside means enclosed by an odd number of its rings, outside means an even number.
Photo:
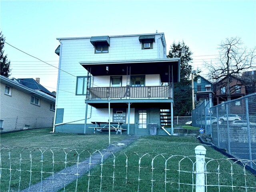
[[[108,62],[80,62],[88,71],[89,76],[126,76],[126,86],[109,87],[92,85],[87,86],[86,92],[86,114],[88,105],[96,109],[108,109],[112,115],[114,109],[125,109],[127,118],[127,134],[140,134],[139,129],[144,124],[157,122],[160,124],[160,110],[170,110],[171,127],[173,134],[173,83],[180,80],[180,59],[160,60],[130,60],[130,61],[108,61]],[[160,86],[137,85],[132,82],[132,76],[158,74]],[[89,82],[89,79],[88,81]],[[147,84],[146,84],[147,85]],[[130,117],[132,110],[132,119]],[[158,113],[158,114],[157,114]],[[142,117],[146,114],[146,119]],[[110,121],[111,117],[109,118]],[[112,118],[113,119],[113,118]],[[130,121],[132,124],[130,123]],[[87,124],[91,122],[85,118],[84,134],[87,132]],[[142,125],[141,125],[142,124]],[[133,127],[132,127],[133,126]],[[131,131],[132,129],[134,131]],[[138,131],[139,130],[139,131]]]

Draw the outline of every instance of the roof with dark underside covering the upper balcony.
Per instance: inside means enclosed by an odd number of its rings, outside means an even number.
[[[174,82],[180,81],[180,59],[161,59],[161,60],[132,60],[132,61],[113,61],[113,62],[80,62],[80,64],[93,76],[120,76],[126,75],[127,69],[130,75],[160,74],[162,82],[169,82],[170,72],[173,68]],[[108,66],[108,71],[106,70]],[[172,74],[170,74],[170,77]]]

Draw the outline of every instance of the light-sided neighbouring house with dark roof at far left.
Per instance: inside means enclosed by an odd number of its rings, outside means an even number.
[[[31,78],[0,76],[0,82],[1,132],[52,127],[55,96],[51,92]]]

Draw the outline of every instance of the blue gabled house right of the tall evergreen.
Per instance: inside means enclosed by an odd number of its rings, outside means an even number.
[[[212,97],[214,96],[213,83],[200,75],[196,76],[194,78],[194,94],[197,103],[205,100],[212,103]],[[211,104],[211,106],[213,105]]]

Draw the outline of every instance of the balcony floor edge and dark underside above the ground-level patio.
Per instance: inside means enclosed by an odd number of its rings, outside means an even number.
[[[130,102],[130,108],[170,109],[171,102],[173,102],[173,99],[110,100],[110,108],[128,108],[128,102]],[[108,108],[108,100],[86,100],[86,103],[95,108]]]

